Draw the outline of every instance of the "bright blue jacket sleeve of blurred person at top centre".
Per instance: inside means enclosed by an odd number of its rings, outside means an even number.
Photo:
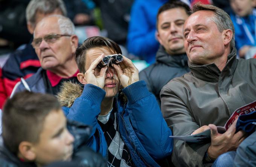
[[[152,55],[152,51],[157,51],[159,44],[155,39],[155,25],[152,28],[147,21],[149,14],[148,10],[144,9],[144,3],[144,1],[136,0],[131,9],[127,49],[146,60],[146,56]]]

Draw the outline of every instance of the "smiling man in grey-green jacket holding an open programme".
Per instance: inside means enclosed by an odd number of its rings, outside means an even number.
[[[256,60],[236,59],[234,34],[229,15],[215,6],[195,4],[184,23],[191,72],[162,88],[162,112],[174,136],[210,128],[211,142],[174,140],[175,166],[211,166],[214,161],[215,166],[219,155],[235,151],[245,139],[243,131],[235,133],[236,122],[224,134],[216,128],[224,126],[237,108],[256,99]]]

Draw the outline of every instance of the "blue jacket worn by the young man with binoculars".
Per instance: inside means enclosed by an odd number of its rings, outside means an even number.
[[[172,139],[169,138],[172,132],[144,81],[138,81],[122,91],[127,96],[128,103],[124,105],[122,101],[117,100],[119,133],[136,166],[158,166],[155,160],[162,159],[172,152]],[[104,97],[103,89],[86,84],[82,95],[76,98],[72,107],[64,110],[68,119],[93,127],[89,146],[106,157],[107,143],[97,121]]]

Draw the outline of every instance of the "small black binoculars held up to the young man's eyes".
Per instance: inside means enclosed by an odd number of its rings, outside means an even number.
[[[123,55],[121,54],[114,54],[114,55],[107,55],[104,58],[102,58],[101,62],[97,65],[97,69],[101,69],[108,64],[120,64],[123,61]]]

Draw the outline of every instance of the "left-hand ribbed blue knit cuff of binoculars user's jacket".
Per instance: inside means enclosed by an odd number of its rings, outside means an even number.
[[[82,98],[90,100],[93,104],[101,104],[106,92],[93,84],[85,84]]]

